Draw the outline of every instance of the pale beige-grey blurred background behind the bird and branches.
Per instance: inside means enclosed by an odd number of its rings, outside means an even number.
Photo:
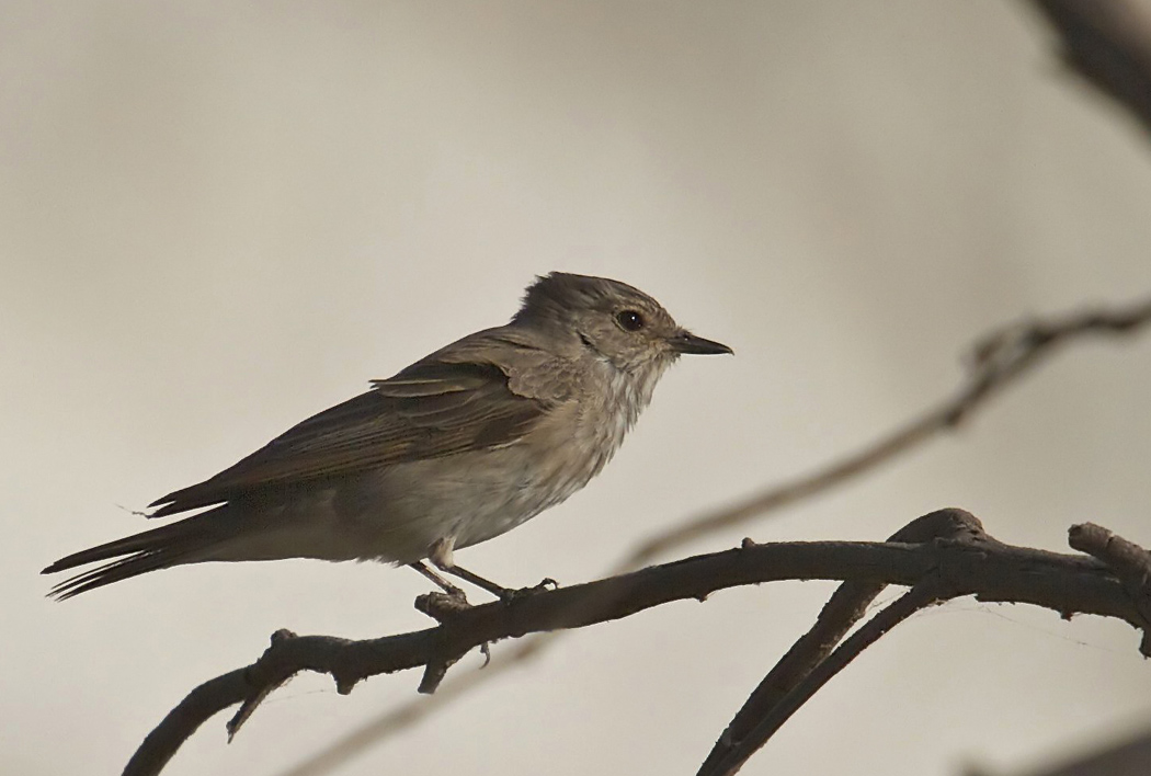
[[[991,0],[0,2],[0,771],[119,773],[277,627],[424,626],[403,570],[193,566],[66,604],[38,571],[504,321],[535,273],[634,283],[737,356],[685,359],[586,492],[462,555],[505,584],[595,577],[854,449],[997,324],[1146,292],[1151,145],[1049,43]],[[879,539],[943,505],[1007,541],[1060,549],[1092,519],[1151,543],[1149,381],[1151,337],[1076,347],[958,436],[691,549]],[[829,591],[588,629],[341,773],[694,773]],[[1151,718],[1136,641],[948,604],[746,773],[1058,756]],[[417,682],[298,678],[168,773],[281,773]]]

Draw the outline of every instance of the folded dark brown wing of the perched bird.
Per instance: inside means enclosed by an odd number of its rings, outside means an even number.
[[[215,477],[157,500],[153,516],[514,443],[558,396],[517,393],[509,380],[514,370],[477,359],[479,343],[467,344],[449,345],[394,378],[376,380],[372,390],[304,420]],[[456,360],[460,357],[466,360]]]

